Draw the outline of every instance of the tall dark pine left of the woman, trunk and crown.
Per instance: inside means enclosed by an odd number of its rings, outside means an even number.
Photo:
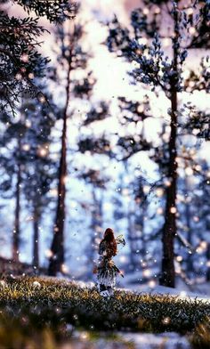
[[[74,109],[69,109],[70,101],[77,98],[88,98],[94,79],[91,72],[87,72],[87,62],[90,57],[82,48],[82,39],[85,35],[82,25],[74,23],[71,28],[64,25],[57,29],[56,40],[58,48],[58,65],[55,69],[57,81],[63,84],[65,93],[65,104],[61,113],[61,158],[58,170],[58,198],[57,209],[53,228],[53,238],[48,272],[55,275],[62,272],[64,264],[64,223],[65,223],[65,198],[67,178],[67,121],[73,116]],[[61,77],[61,71],[64,78]],[[82,72],[84,77],[77,78],[77,71]]]

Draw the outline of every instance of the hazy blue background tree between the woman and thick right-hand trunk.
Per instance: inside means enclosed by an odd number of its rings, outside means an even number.
[[[118,97],[119,101],[119,124],[125,135],[117,139],[116,157],[122,161],[125,173],[129,174],[129,160],[141,152],[148,153],[152,144],[148,142],[144,134],[144,121],[151,118],[148,96],[142,101],[131,101],[125,97]],[[126,131],[127,126],[132,124],[133,132]],[[141,127],[140,127],[141,126]],[[118,155],[118,153],[120,155]],[[133,172],[133,171],[131,171]],[[146,243],[144,236],[144,217],[146,215],[148,200],[144,192],[147,181],[141,176],[134,176],[129,183],[133,205],[130,204],[127,211],[128,241],[130,243],[130,267],[134,271],[140,270],[141,260],[146,255]],[[123,178],[122,178],[122,184]]]

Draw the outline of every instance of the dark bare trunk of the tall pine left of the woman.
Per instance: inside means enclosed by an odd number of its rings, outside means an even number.
[[[68,79],[66,86],[66,105],[63,111],[63,126],[61,135],[61,159],[59,166],[59,185],[58,185],[58,202],[56,209],[56,217],[52,238],[52,257],[50,258],[48,273],[55,276],[57,272],[61,272],[61,266],[64,263],[64,222],[65,222],[65,196],[67,175],[67,118],[69,107],[69,85],[70,85],[70,69],[69,62]]]

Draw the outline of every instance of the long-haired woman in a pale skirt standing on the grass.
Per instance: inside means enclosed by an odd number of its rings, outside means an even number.
[[[122,235],[115,239],[114,231],[110,228],[106,229],[99,246],[98,266],[95,268],[101,296],[112,296],[117,274],[119,273],[124,277],[112,260],[112,257],[117,256],[117,245],[119,244],[125,246],[125,239],[122,238]]]

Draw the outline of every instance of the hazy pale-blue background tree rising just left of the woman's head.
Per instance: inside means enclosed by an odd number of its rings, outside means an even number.
[[[109,104],[107,101],[97,101],[93,102],[89,100],[89,108],[86,112],[85,118],[81,124],[81,132],[77,139],[78,151],[81,154],[91,153],[92,155],[105,155],[108,157],[112,156],[111,144],[109,139],[107,139],[106,134],[100,135],[86,135],[83,131],[86,130],[87,126],[89,129],[93,130],[96,122],[102,122],[106,118],[109,118]],[[102,160],[101,160],[102,161]],[[96,163],[98,162],[96,158]],[[85,166],[87,166],[85,164]],[[82,172],[79,176],[85,180],[86,183],[90,183],[92,186],[92,199],[90,210],[92,214],[91,223],[91,248],[89,258],[92,263],[95,261],[95,252],[99,246],[101,240],[102,231],[102,219],[103,219],[103,191],[107,188],[107,183],[110,178],[103,174],[101,170],[94,169],[92,166],[90,168],[87,166],[85,172]],[[93,274],[93,272],[91,271]]]

